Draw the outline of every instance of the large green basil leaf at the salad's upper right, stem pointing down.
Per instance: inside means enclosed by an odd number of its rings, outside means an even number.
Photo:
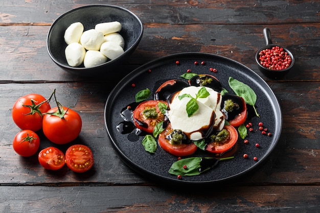
[[[256,112],[256,115],[260,117],[255,107],[255,104],[257,101],[257,94],[255,93],[255,91],[252,88],[250,88],[248,85],[232,77],[229,77],[228,82],[229,82],[229,86],[236,93],[236,95],[241,96],[244,99],[245,103],[253,106]]]

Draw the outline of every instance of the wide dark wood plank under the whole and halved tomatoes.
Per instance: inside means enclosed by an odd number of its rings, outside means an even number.
[[[0,185],[78,185],[91,184],[154,184],[131,171],[119,159],[113,149],[104,126],[104,106],[112,84],[101,83],[36,83],[0,84]],[[240,182],[249,184],[312,184],[320,182],[320,159],[317,153],[320,114],[318,101],[318,82],[295,82],[270,84],[283,110],[283,131],[279,148],[272,157],[253,175]],[[79,138],[73,143],[81,143],[92,148],[95,166],[87,174],[75,174],[64,168],[60,172],[42,169],[37,156],[23,158],[12,149],[12,139],[19,131],[11,118],[11,108],[18,97],[28,93],[41,93],[49,97],[57,89],[57,97],[65,106],[73,107],[83,120]],[[53,102],[52,105],[55,103]],[[53,146],[39,132],[41,148]],[[58,146],[65,151],[68,145]]]

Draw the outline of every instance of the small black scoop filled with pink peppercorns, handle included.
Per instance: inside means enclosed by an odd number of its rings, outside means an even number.
[[[272,44],[271,33],[268,28],[263,29],[266,46],[256,54],[259,70],[266,77],[281,78],[286,75],[294,64],[294,57],[290,51],[279,45]]]

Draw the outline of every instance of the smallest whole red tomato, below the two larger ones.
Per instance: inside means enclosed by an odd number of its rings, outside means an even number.
[[[18,132],[13,138],[12,143],[14,151],[23,157],[34,155],[38,151],[39,145],[39,136],[31,130]]]

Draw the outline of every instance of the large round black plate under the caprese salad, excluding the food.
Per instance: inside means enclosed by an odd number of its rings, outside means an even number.
[[[176,61],[179,61],[179,65],[176,64]],[[194,63],[195,61],[198,62],[197,65]],[[201,64],[202,61],[204,65]],[[211,72],[211,67],[216,68],[217,72]],[[249,143],[244,144],[239,137],[240,139],[233,150],[225,154],[235,158],[220,161],[217,167],[200,175],[184,176],[178,180],[175,175],[168,173],[177,157],[165,152],[159,146],[155,154],[150,154],[144,150],[141,143],[143,136],[136,136],[134,131],[129,134],[121,134],[116,127],[123,121],[120,116],[122,108],[135,101],[135,94],[138,91],[149,88],[151,92],[154,92],[159,85],[167,80],[182,80],[179,76],[186,73],[188,69],[197,74],[214,75],[230,93],[233,93],[233,90],[228,86],[229,77],[247,84],[257,94],[256,107],[260,117],[253,116],[252,112],[249,113],[250,119],[247,123],[252,123],[254,128],[253,132],[248,131],[246,139],[249,140]],[[135,84],[135,87],[132,87],[132,84]],[[150,99],[152,97],[150,96]],[[257,130],[259,122],[263,122],[272,136],[263,135],[260,130]],[[122,79],[112,90],[106,102],[105,124],[111,143],[124,162],[136,172],[154,181],[174,184],[212,184],[238,178],[259,167],[277,144],[281,132],[282,114],[275,94],[253,70],[234,60],[217,55],[182,53],[151,61]],[[259,148],[255,146],[256,143],[259,143]],[[243,154],[247,154],[248,158],[243,158]],[[207,157],[212,155],[198,150],[192,156]],[[257,157],[258,160],[253,160],[254,157]]]

